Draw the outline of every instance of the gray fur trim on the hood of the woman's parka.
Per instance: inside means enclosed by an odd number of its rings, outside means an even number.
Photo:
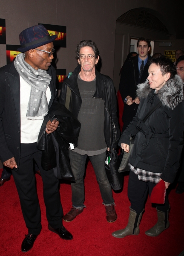
[[[152,92],[149,81],[138,84],[137,96],[147,98],[148,94]],[[160,90],[158,90],[158,98],[161,100],[162,105],[172,110],[184,100],[183,81],[180,76],[175,75],[169,79]]]

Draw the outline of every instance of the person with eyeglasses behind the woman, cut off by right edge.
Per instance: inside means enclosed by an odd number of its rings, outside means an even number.
[[[176,71],[178,76],[181,77],[184,83],[184,55],[181,55],[177,61],[176,61]],[[180,174],[178,177],[178,186],[176,188],[176,193],[177,194],[182,194],[184,193],[184,148],[183,148],[183,153],[181,155],[181,166],[179,170]]]

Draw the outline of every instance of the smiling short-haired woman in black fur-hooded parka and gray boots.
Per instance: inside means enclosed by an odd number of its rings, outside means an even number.
[[[167,189],[179,168],[184,131],[183,82],[170,59],[153,58],[150,62],[147,81],[138,85],[141,102],[137,114],[119,140],[121,148],[129,152],[129,139],[137,133],[129,157],[129,221],[123,230],[112,233],[116,238],[139,234],[147,192],[151,195],[160,180]],[[161,107],[142,122],[159,101]],[[156,204],[156,208],[158,222],[145,232],[147,236],[158,236],[170,225],[167,190],[165,203]]]

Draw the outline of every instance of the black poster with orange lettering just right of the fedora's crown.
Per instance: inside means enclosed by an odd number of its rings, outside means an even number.
[[[42,24],[42,23],[39,23]],[[66,47],[66,26],[42,24],[50,35],[57,35],[54,41],[55,47]]]

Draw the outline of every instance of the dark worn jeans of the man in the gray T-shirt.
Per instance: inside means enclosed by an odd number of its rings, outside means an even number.
[[[75,207],[83,207],[85,199],[83,176],[85,172],[87,155],[81,155],[74,151],[70,151],[69,157],[72,172],[75,177],[75,183],[71,183],[72,204]],[[112,188],[109,184],[109,180],[107,179],[105,172],[105,158],[106,152],[96,156],[89,156],[89,159],[95,170],[96,178],[101,192],[101,197],[103,199],[103,204],[113,204],[114,199],[112,197]]]

